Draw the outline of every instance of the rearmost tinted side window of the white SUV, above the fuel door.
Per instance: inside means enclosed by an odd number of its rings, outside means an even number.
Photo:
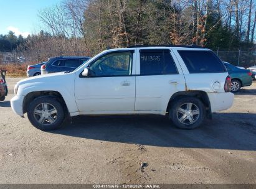
[[[189,73],[220,73],[226,72],[223,63],[211,51],[178,50]]]

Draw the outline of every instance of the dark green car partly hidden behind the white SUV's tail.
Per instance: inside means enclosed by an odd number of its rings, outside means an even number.
[[[231,92],[235,93],[242,86],[252,85],[252,72],[250,70],[240,69],[227,62],[223,63],[231,77]]]

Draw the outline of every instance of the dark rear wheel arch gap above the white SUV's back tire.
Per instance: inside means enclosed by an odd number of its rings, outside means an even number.
[[[207,118],[212,118],[212,111],[211,111],[211,103],[209,100],[209,97],[205,91],[179,91],[177,93],[174,93],[173,96],[169,99],[168,106],[166,108],[166,112],[169,111],[169,108],[171,107],[172,103],[176,101],[176,99],[184,98],[184,97],[196,97],[199,98],[204,106],[206,106],[206,116]]]

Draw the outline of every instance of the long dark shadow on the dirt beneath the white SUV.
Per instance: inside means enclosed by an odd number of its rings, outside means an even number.
[[[256,114],[216,113],[194,130],[164,116],[77,116],[55,134],[161,147],[256,150]]]

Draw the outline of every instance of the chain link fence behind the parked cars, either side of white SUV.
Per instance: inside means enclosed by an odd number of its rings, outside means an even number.
[[[235,66],[252,67],[256,65],[256,50],[214,50],[222,61],[229,62]],[[86,56],[93,57],[98,52],[50,52],[42,50],[26,50],[22,52],[0,52],[0,63],[39,63],[45,62],[50,57],[57,56]]]

